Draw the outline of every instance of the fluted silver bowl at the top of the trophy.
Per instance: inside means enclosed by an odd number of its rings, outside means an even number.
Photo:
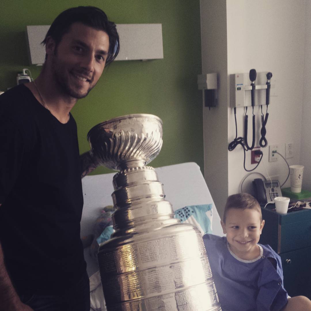
[[[87,134],[100,164],[114,170],[142,167],[162,147],[162,120],[152,114],[129,114],[95,125]]]

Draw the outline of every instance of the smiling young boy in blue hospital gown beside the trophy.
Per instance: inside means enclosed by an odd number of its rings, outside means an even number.
[[[311,310],[308,298],[289,299],[280,256],[258,244],[264,224],[258,201],[239,193],[225,205],[221,226],[226,237],[203,236],[222,310]]]

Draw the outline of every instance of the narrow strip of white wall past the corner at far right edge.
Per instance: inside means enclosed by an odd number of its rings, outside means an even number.
[[[304,98],[302,107],[302,135],[300,164],[304,165],[303,189],[311,190],[311,1],[306,1]]]

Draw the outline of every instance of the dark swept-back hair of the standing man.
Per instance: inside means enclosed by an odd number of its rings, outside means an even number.
[[[109,50],[106,65],[111,63],[117,57],[120,50],[119,35],[115,23],[109,21],[105,12],[98,7],[80,6],[63,11],[53,21],[42,44],[45,44],[46,38],[51,36],[57,47],[63,35],[67,33],[70,26],[76,22],[80,22],[97,30],[103,30],[107,33],[109,37]],[[45,59],[47,59],[47,55],[45,55]]]

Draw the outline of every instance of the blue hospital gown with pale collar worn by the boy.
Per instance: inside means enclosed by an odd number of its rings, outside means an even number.
[[[285,306],[281,258],[269,245],[259,244],[262,256],[257,260],[240,261],[225,237],[205,234],[203,240],[223,311],[278,311]]]

